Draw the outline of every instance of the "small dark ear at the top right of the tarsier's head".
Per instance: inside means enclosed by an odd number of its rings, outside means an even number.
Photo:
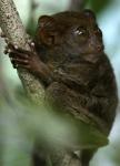
[[[96,21],[96,14],[90,9],[84,9],[83,15],[88,17],[88,19],[90,19],[91,21]]]

